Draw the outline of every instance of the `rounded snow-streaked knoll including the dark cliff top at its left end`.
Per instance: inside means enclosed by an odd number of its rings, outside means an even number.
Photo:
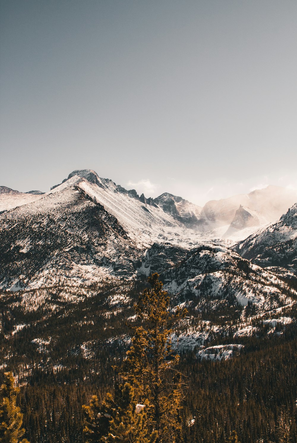
[[[243,315],[250,303],[258,311],[269,311],[292,302],[284,284],[271,272],[243,259],[232,250],[203,244],[191,250],[154,244],[145,255],[139,272],[161,272],[166,289],[182,300],[191,299],[198,311],[228,315],[236,308]],[[273,302],[271,301],[273,299]]]

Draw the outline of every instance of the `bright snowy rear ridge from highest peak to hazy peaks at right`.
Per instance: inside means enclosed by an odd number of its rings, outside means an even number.
[[[139,197],[135,189],[126,190],[111,179],[100,178],[96,171],[77,169],[46,194],[40,191],[24,194],[3,187],[5,192],[0,194],[0,211],[34,201],[45,204],[47,196],[53,192],[62,198],[59,193],[73,186],[100,203],[132,237],[138,235],[141,242],[158,238],[169,241],[173,236],[171,240],[176,243],[181,232],[180,241],[181,238],[185,241],[186,237],[187,242],[192,237],[194,242],[201,241],[202,237],[242,240],[258,227],[278,220],[297,201],[297,191],[268,186],[249,194],[211,200],[201,207],[168,192],[156,198],[144,194]]]

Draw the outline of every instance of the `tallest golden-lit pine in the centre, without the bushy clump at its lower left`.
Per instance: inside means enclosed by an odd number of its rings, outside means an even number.
[[[135,388],[139,401],[147,401],[150,429],[158,432],[158,443],[181,442],[181,374],[174,369],[179,356],[171,346],[172,327],[187,313],[170,312],[170,297],[163,291],[157,273],[148,278],[150,288],[135,305],[141,326],[133,327],[132,345],[120,376]]]

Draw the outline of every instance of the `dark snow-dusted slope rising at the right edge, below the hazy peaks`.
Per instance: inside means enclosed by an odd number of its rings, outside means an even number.
[[[235,250],[280,275],[297,276],[297,203],[279,221],[240,241]]]

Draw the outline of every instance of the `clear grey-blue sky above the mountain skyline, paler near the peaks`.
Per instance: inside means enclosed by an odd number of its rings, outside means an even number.
[[[296,0],[0,0],[0,185],[297,188]]]

